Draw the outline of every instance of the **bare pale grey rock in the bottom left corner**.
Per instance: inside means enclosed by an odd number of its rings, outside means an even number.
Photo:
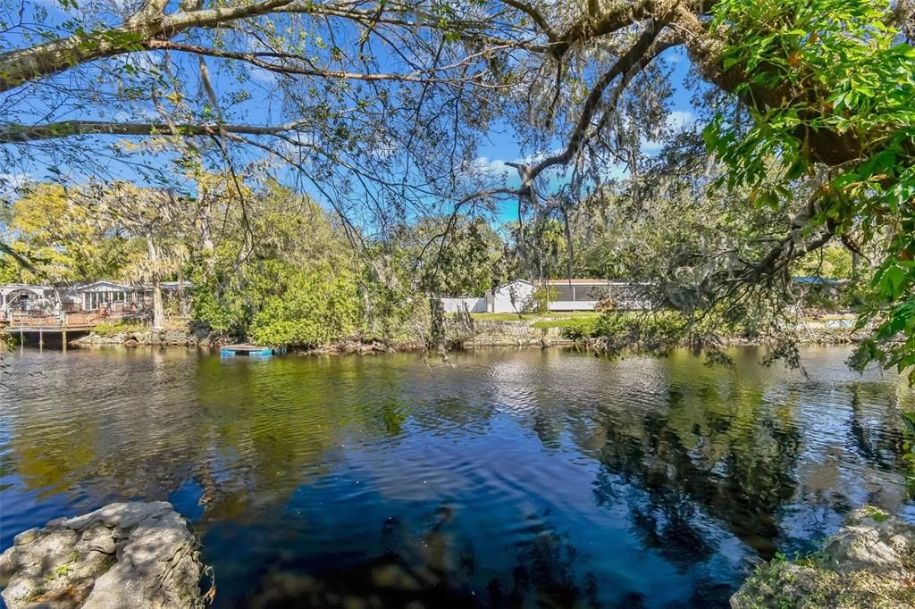
[[[165,501],[51,520],[0,555],[9,609],[200,607],[201,571],[197,540]]]

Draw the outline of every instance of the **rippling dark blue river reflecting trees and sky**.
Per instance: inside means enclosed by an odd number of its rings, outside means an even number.
[[[903,488],[905,382],[686,353],[270,360],[21,350],[0,387],[0,550],[167,499],[217,607],[716,607]]]

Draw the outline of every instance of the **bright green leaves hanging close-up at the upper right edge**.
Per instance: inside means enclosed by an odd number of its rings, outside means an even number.
[[[891,8],[888,0],[716,3],[716,27],[730,40],[725,66],[752,75],[737,92],[755,99],[754,87],[770,87],[781,99],[751,108],[748,129],[719,114],[705,139],[728,166],[727,186],[750,188],[756,205],[785,208],[804,193],[809,231],[854,230],[879,244],[859,318],[877,331],[855,364],[903,371],[915,365],[915,48],[887,25]],[[813,155],[823,142],[843,162]]]

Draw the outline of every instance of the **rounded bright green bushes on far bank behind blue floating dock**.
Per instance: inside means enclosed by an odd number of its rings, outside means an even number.
[[[224,203],[221,203],[224,204]],[[368,248],[357,259],[328,214],[268,185],[238,208],[220,244],[191,264],[193,316],[213,330],[265,345],[318,347],[345,339],[416,339],[425,298],[416,297],[410,257]]]

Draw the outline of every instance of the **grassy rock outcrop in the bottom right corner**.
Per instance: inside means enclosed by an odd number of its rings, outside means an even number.
[[[761,566],[731,607],[915,607],[915,527],[876,508],[858,509],[820,554]]]

